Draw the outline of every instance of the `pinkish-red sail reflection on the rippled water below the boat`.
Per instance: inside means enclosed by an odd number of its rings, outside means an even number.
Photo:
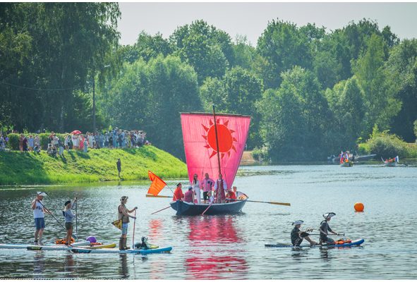
[[[186,258],[187,274],[192,279],[244,279],[248,265],[238,246],[243,243],[234,228],[232,216],[189,217],[188,239],[193,250]],[[241,274],[241,276],[236,273]]]

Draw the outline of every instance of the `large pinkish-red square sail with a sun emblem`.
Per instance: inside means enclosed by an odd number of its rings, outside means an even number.
[[[181,114],[188,177],[191,182],[197,173],[201,181],[205,173],[209,173],[210,178],[216,180],[219,153],[223,179],[231,187],[246,145],[250,116],[216,114],[216,118],[219,152],[212,114]]]

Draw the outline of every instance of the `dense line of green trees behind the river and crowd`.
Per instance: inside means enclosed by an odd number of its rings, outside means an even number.
[[[248,148],[274,161],[354,150],[375,125],[416,140],[417,40],[372,20],[327,31],[274,19],[255,47],[195,20],[122,46],[117,4],[0,5],[3,127],[91,130],[94,80],[97,128],[141,128],[177,157],[179,113],[212,104],[252,116]]]

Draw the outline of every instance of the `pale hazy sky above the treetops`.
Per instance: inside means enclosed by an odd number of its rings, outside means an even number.
[[[121,44],[133,44],[140,31],[164,38],[176,27],[203,19],[234,39],[246,35],[253,46],[268,21],[279,18],[296,25],[315,23],[327,32],[351,20],[376,20],[399,38],[417,38],[417,3],[119,3]]]

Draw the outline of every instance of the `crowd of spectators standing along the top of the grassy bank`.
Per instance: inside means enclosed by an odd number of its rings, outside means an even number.
[[[8,137],[0,134],[0,150],[6,149]],[[36,152],[41,150],[39,135],[25,135],[20,134],[19,137],[20,152]],[[48,137],[47,153],[53,156],[56,154],[64,154],[64,149],[80,150],[87,152],[88,149],[101,148],[138,148],[143,145],[151,145],[146,140],[146,133],[143,130],[122,130],[115,128],[114,130],[99,132],[99,133],[81,133],[79,130],[74,130],[68,133],[65,137],[59,137],[52,131]]]

